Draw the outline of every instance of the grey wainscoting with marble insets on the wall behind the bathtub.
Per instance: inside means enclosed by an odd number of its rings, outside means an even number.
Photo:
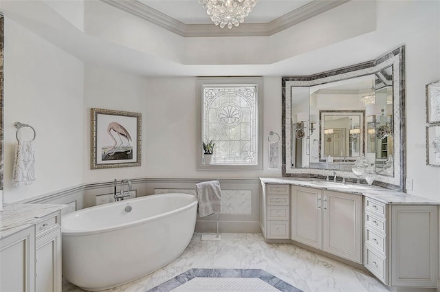
[[[136,196],[159,194],[163,192],[185,192],[195,195],[195,184],[209,179],[168,179],[142,178],[132,179]],[[220,232],[260,233],[260,196],[259,179],[219,179],[222,190],[222,209],[219,216]],[[114,194],[114,182],[87,183],[83,186],[52,192],[19,203],[58,203],[67,204],[63,214],[86,207],[111,203]],[[120,181],[116,185],[120,192]],[[215,216],[200,218],[197,216],[196,232],[215,232]]]

